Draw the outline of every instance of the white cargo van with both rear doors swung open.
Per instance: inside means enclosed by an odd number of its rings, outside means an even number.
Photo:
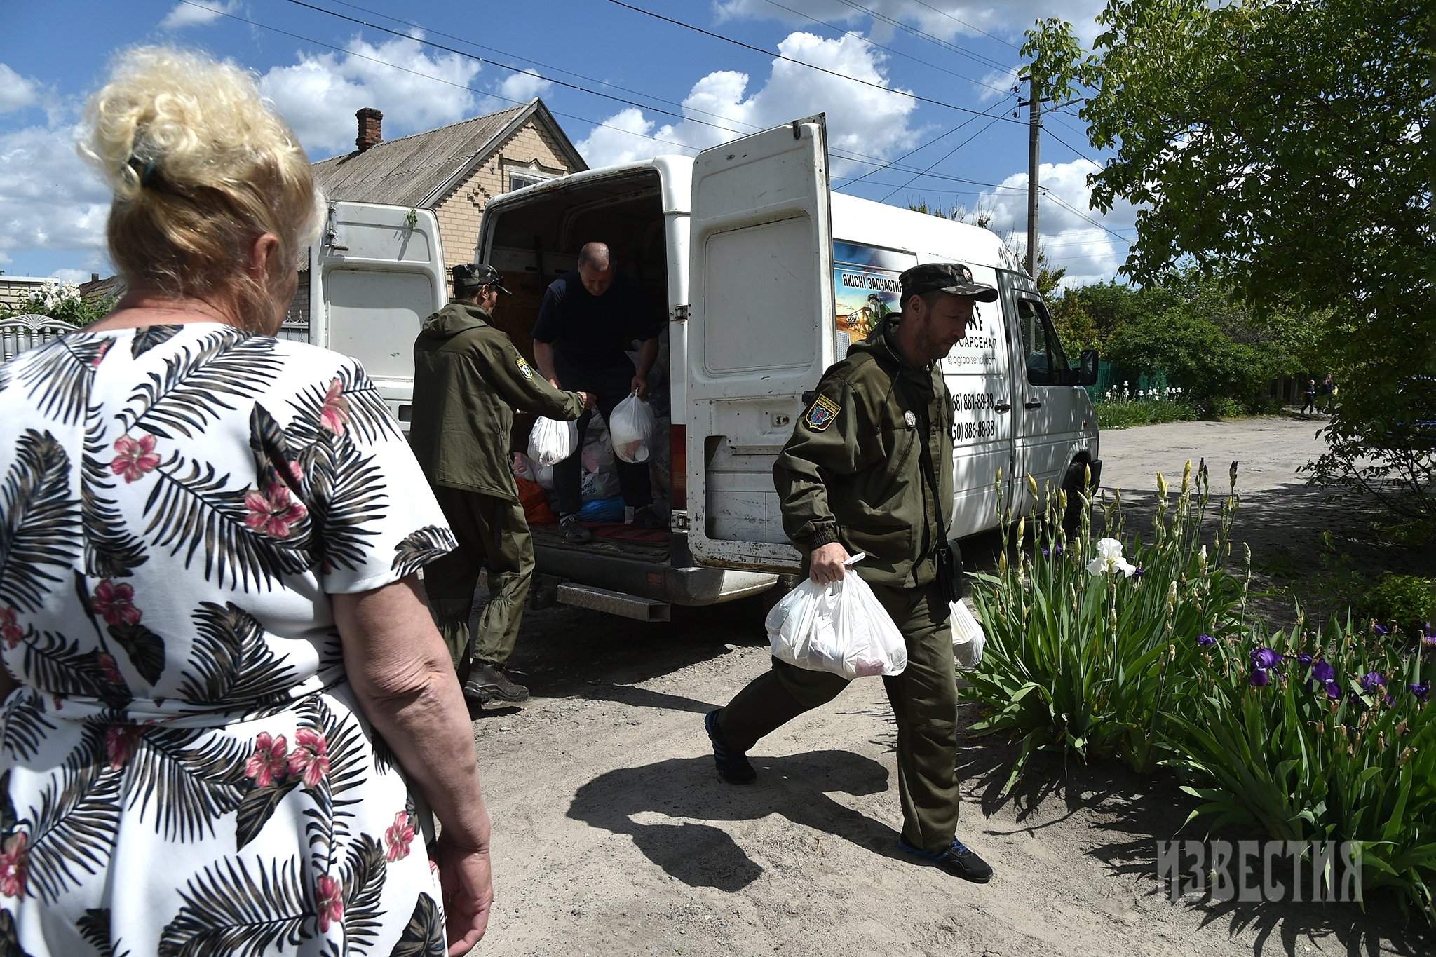
[[[437,227],[426,211],[415,221],[391,208],[370,225],[373,207],[335,207],[312,254],[312,337],[363,359],[408,420],[418,321],[444,301]],[[402,255],[365,258],[378,250],[366,235],[388,237],[391,253],[408,238]],[[1014,514],[1032,505],[1021,476],[1071,488],[1086,465],[1100,475],[1081,387],[1096,356],[1068,362],[1037,286],[991,231],[830,192],[821,116],[491,199],[474,255],[514,293],[495,324],[520,350],[531,349],[544,288],[593,240],[668,317],[655,405],[671,422],[672,479],[655,492],[671,505],[671,534],[572,545],[536,527],[540,603],[662,620],[671,604],[741,598],[797,571],[773,462],[823,370],[899,308],[898,275],[916,263],[964,263],[1001,291],[942,360],[958,430],[952,537],[997,524],[999,473]],[[516,425],[516,451],[530,425]]]

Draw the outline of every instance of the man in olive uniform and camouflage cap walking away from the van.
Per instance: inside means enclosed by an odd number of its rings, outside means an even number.
[[[948,604],[958,600],[961,567],[948,542],[954,415],[941,360],[966,336],[975,304],[998,294],[955,263],[915,265],[899,281],[902,311],[824,373],[773,476],[783,527],[813,581],[862,575],[906,640],[906,670],[883,679],[898,720],[899,847],[985,882],[992,868],[955,834],[958,687]],[[849,570],[856,552],[866,557]],[[774,659],[704,722],[719,776],[754,781],[745,752],[846,686],[841,676]]]

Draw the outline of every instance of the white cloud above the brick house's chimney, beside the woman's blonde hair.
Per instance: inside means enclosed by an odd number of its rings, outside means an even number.
[[[363,106],[383,113],[385,139],[454,123],[478,112],[475,96],[461,89],[471,86],[478,75],[477,60],[457,53],[429,56],[424,44],[405,37],[379,46],[356,37],[349,49],[348,55],[302,52],[294,66],[276,66],[260,77],[260,90],[294,128],[310,159],[353,149],[355,112]],[[366,56],[426,76],[366,60]]]

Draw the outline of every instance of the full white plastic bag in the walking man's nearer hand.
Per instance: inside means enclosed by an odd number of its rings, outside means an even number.
[[[849,574],[840,581],[804,578],[773,607],[764,624],[774,657],[847,679],[902,674],[908,646],[877,595],[852,571],[862,558],[859,552],[844,562]]]

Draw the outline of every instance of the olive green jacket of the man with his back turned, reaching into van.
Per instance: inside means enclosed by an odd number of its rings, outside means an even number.
[[[572,420],[577,392],[560,392],[530,366],[478,306],[449,303],[414,343],[409,445],[434,485],[518,501],[508,438],[514,409]]]

